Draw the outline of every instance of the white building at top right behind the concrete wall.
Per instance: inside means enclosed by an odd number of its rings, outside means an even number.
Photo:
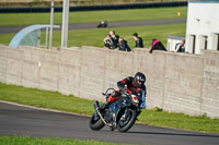
[[[186,51],[219,50],[219,0],[188,0]]]

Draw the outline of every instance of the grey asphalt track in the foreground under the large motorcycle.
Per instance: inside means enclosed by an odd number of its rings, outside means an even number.
[[[0,101],[0,135],[96,140],[143,145],[218,145],[219,134],[134,124],[127,133],[91,131],[89,117]]]

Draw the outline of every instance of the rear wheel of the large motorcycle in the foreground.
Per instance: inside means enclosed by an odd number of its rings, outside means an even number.
[[[93,131],[99,131],[104,126],[103,120],[99,116],[96,116],[96,112],[93,113],[90,120],[90,129]]]

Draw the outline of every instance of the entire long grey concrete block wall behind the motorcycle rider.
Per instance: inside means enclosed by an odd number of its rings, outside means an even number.
[[[106,88],[141,71],[147,105],[193,116],[219,118],[219,52],[204,56],[135,49],[82,47],[45,50],[0,46],[0,82],[104,100]]]

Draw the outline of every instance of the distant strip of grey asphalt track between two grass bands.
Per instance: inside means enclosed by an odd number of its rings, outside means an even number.
[[[165,25],[186,23],[186,19],[169,19],[169,20],[147,20],[147,21],[128,21],[128,22],[108,22],[108,27],[125,27],[125,26],[147,26],[147,25]],[[96,28],[99,23],[78,23],[69,24],[70,29],[90,29]],[[0,34],[18,33],[26,25],[20,26],[0,26]],[[55,29],[60,31],[60,28]]]

